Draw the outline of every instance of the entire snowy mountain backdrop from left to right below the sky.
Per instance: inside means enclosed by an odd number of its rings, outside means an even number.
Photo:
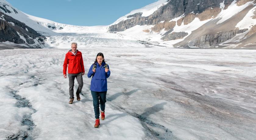
[[[108,26],[61,24],[0,0],[0,23],[1,46],[101,45],[118,39],[151,44],[145,47],[256,49],[256,0],[158,0]]]

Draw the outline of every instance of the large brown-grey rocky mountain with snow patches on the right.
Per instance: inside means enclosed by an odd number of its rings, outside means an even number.
[[[256,49],[255,0],[168,0],[156,6],[148,15],[147,7],[132,11],[109,31],[138,34],[140,30],[148,40],[166,41],[173,47]]]

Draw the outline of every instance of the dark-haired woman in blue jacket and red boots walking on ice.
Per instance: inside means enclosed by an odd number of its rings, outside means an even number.
[[[110,71],[108,65],[105,63],[104,55],[98,53],[96,60],[91,65],[89,72],[87,74],[88,78],[92,76],[91,79],[91,95],[93,98],[94,114],[95,114],[95,124],[94,127],[98,128],[100,125],[100,112],[101,120],[105,119],[105,103],[107,94],[107,78],[110,76]],[[99,110],[101,107],[101,111]]]

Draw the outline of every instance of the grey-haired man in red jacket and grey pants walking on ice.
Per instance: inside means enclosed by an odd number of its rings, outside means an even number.
[[[68,66],[68,76],[69,76],[69,103],[72,104],[74,101],[74,81],[75,78],[78,82],[78,88],[76,90],[76,100],[80,101],[79,93],[81,93],[83,87],[83,77],[84,75],[84,61],[82,53],[77,49],[77,44],[75,42],[71,43],[71,50],[66,53],[66,57],[63,64],[63,76],[67,78],[67,66]]]

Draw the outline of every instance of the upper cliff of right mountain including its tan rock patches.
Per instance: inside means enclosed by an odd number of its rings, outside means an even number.
[[[180,19],[179,24],[181,24],[184,19],[184,25],[186,25],[193,21],[195,15],[204,12],[208,8],[218,7],[219,9],[219,4],[221,2],[222,0],[168,0],[166,4],[159,7],[158,10],[156,10],[153,14],[149,16],[141,16],[143,13],[139,12],[133,15],[129,15],[127,16],[127,20],[110,26],[109,31],[124,31],[135,25],[155,25],[153,31],[156,32],[162,30],[163,28],[170,30],[175,26],[175,24],[172,24],[173,22],[169,22],[171,19],[182,16],[184,14],[184,17]],[[225,2],[225,5],[230,5],[230,3],[230,0],[228,0]],[[212,9],[209,11],[209,13],[216,15],[218,9]],[[211,18],[212,15],[207,16],[208,18]],[[204,19],[207,19],[207,17],[204,17]],[[164,22],[161,23],[161,21]]]

